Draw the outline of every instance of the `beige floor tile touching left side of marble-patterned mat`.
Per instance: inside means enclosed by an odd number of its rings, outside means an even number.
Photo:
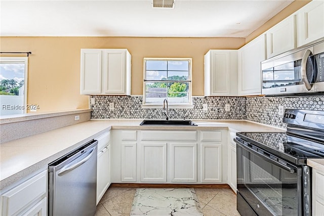
[[[107,209],[111,216],[129,216],[135,196],[135,188],[128,189],[113,198],[110,198],[102,205]]]

